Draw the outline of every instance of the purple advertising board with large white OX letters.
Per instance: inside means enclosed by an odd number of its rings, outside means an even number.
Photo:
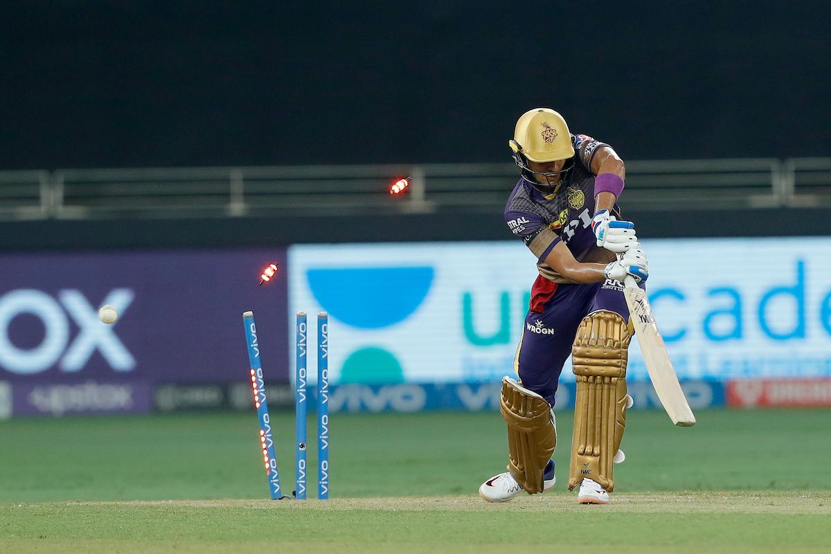
[[[285,279],[258,287],[275,250],[0,256],[0,380],[245,380],[243,311],[261,327],[269,378],[288,380]],[[115,325],[98,320],[111,304]],[[15,387],[17,395],[17,387]]]

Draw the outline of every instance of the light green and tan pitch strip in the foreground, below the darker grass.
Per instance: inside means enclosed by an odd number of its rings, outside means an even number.
[[[829,552],[828,495],[50,503],[0,508],[2,552]],[[611,547],[611,545],[614,545]],[[587,548],[588,551],[583,551]],[[549,551],[550,552],[550,551]]]

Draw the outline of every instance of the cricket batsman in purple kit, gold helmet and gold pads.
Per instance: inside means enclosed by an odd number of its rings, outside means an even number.
[[[502,381],[509,471],[479,495],[506,502],[553,487],[557,446],[554,394],[568,355],[577,380],[568,490],[581,504],[606,504],[626,426],[627,348],[632,338],[623,279],[644,287],[647,255],[634,224],[619,221],[625,169],[612,147],[572,135],[563,117],[534,108],[509,141],[520,179],[505,206],[512,233],[537,257],[539,275],[519,339],[514,370]]]

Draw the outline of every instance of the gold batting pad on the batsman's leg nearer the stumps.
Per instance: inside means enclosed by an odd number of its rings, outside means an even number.
[[[502,417],[508,424],[508,469],[525,492],[543,492],[543,471],[557,446],[551,406],[510,377],[502,379]]]

